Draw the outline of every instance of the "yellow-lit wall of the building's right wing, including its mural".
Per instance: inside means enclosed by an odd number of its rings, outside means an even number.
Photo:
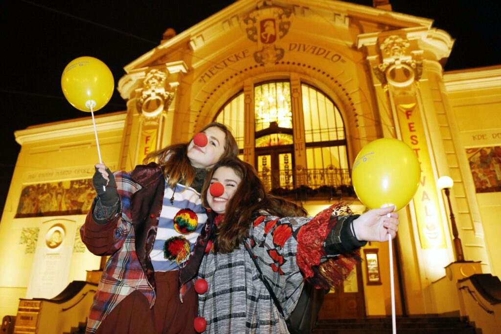
[[[464,186],[457,187],[454,182],[452,189],[452,209],[463,231],[462,244],[469,259],[486,252],[490,272],[499,276],[501,258],[496,254],[501,254],[501,66],[446,72],[444,85],[449,98],[447,113],[452,120],[451,137],[457,143],[460,161],[457,174],[464,178]],[[473,216],[472,224],[465,219],[467,212]],[[484,245],[478,240],[485,240]],[[483,261],[482,266],[486,267]]]

